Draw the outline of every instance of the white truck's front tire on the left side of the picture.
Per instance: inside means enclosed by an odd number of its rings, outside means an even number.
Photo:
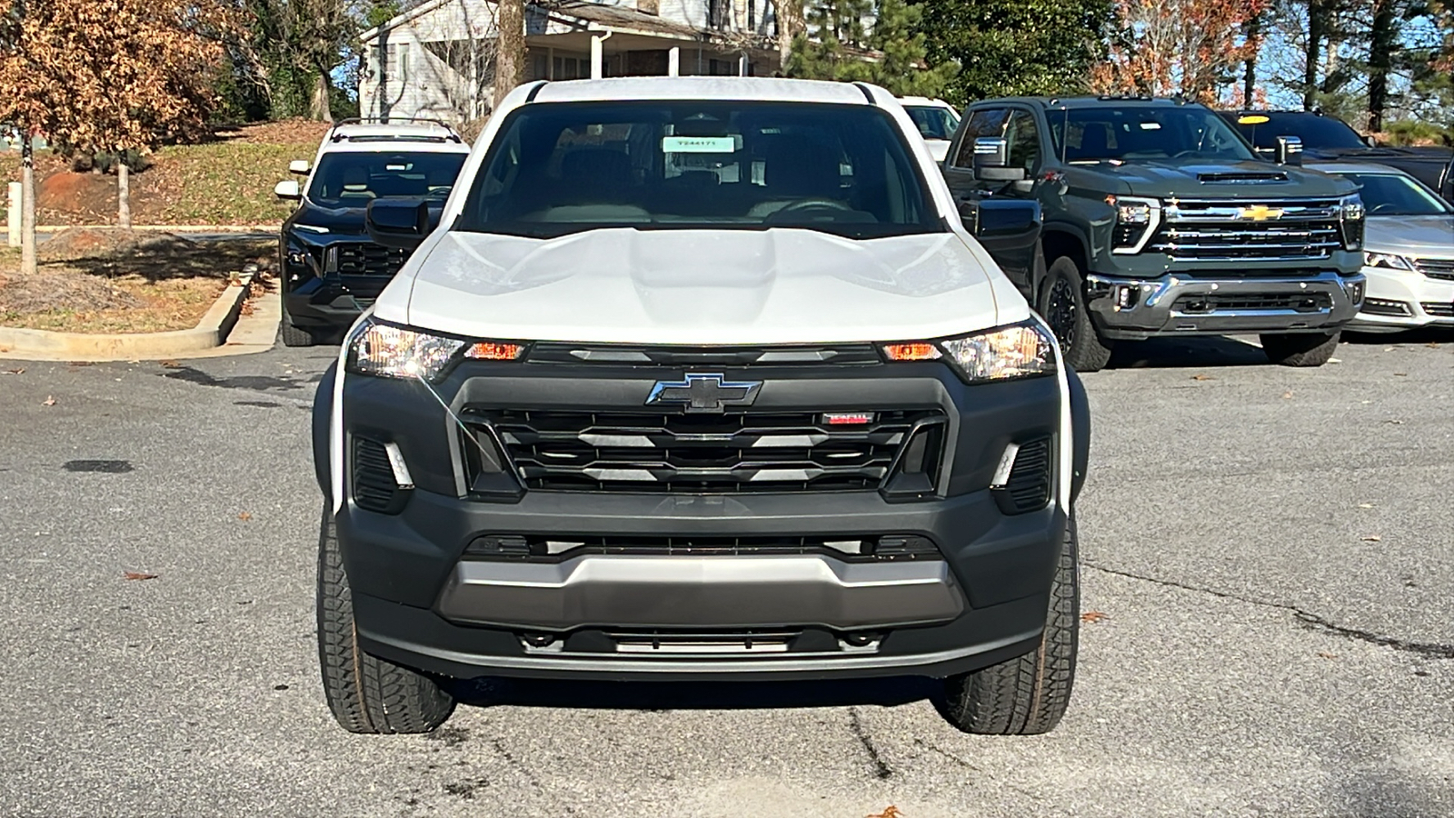
[[[327,508],[318,530],[318,665],[329,709],[349,732],[430,732],[454,712],[454,697],[433,678],[359,648],[353,592]]]

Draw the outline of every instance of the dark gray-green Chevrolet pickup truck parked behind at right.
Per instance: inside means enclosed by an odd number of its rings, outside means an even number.
[[[1362,301],[1364,207],[1351,182],[1298,167],[1297,140],[1280,151],[1259,160],[1179,100],[992,99],[965,112],[942,172],[968,224],[1040,204],[1024,234],[977,236],[1076,370],[1117,341],[1232,333],[1313,367]]]

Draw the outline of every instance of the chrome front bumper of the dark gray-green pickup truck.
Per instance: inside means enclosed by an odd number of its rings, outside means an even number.
[[[1160,335],[1333,332],[1358,313],[1362,274],[1333,271],[1297,277],[1165,274],[1157,278],[1086,275],[1086,300],[1105,338],[1143,341]],[[1268,306],[1307,298],[1312,306]],[[1218,306],[1229,304],[1226,307]]]

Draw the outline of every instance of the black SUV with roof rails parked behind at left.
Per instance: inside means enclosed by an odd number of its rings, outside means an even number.
[[[369,202],[425,198],[438,215],[467,156],[470,146],[442,122],[346,119],[329,130],[314,163],[289,164],[307,180],[275,188],[279,198],[300,202],[278,242],[284,345],[332,341],[409,259],[404,249],[369,240]]]

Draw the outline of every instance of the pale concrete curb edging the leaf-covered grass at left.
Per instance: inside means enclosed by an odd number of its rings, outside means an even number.
[[[49,332],[0,326],[0,357],[32,361],[142,361],[182,358],[227,342],[253,275],[243,274],[218,295],[192,329],[137,333]]]

